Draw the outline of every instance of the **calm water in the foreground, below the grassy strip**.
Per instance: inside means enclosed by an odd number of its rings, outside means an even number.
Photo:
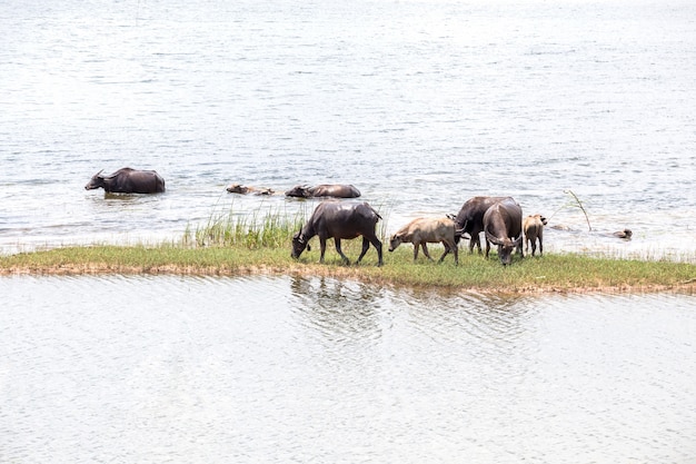
[[[3,277],[2,462],[693,462],[693,296]]]

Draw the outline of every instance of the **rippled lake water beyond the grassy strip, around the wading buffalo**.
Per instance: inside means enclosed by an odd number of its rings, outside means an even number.
[[[387,233],[513,195],[570,229],[548,250],[694,259],[693,2],[10,1],[0,30],[4,253],[314,207],[231,182],[351,182]],[[168,191],[82,189],[122,166]]]

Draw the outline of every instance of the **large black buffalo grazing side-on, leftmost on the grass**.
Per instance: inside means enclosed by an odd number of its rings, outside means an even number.
[[[377,265],[381,266],[381,241],[379,241],[375,234],[375,226],[379,219],[381,219],[381,216],[367,203],[321,201],[302,229],[292,237],[291,256],[299,258],[305,248],[310,250],[309,239],[318,235],[319,245],[321,247],[319,263],[324,263],[326,240],[332,237],[336,244],[336,251],[338,251],[344,261],[348,264],[350,260],[340,249],[340,240],[342,238],[356,238],[361,235],[362,253],[360,253],[356,264],[360,263],[370,247],[370,244],[372,244],[377,249]]]

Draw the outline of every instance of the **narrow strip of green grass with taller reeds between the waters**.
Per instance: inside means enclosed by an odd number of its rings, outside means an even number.
[[[296,260],[290,257],[291,237],[302,217],[286,218],[279,213],[237,218],[233,214],[211,216],[190,228],[176,243],[157,245],[93,245],[22,253],[0,257],[0,274],[171,273],[192,275],[302,274],[355,278],[380,285],[476,289],[483,292],[574,292],[574,290],[696,290],[696,265],[667,260],[598,258],[579,254],[546,254],[504,267],[497,255],[485,259],[460,249],[459,266],[449,255],[441,264],[420,254],[414,263],[412,246],[387,251],[382,267],[370,247],[360,265],[341,263],[329,240],[326,263],[319,264],[319,240],[311,251]],[[344,253],[352,263],[361,240],[344,240]],[[439,257],[441,247],[431,245]]]

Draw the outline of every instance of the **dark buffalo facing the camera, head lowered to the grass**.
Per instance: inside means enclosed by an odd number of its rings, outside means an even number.
[[[513,263],[513,250],[524,258],[521,206],[511,197],[507,197],[486,210],[484,215],[484,231],[486,233],[486,258],[490,244],[498,246],[498,256],[504,266]]]

